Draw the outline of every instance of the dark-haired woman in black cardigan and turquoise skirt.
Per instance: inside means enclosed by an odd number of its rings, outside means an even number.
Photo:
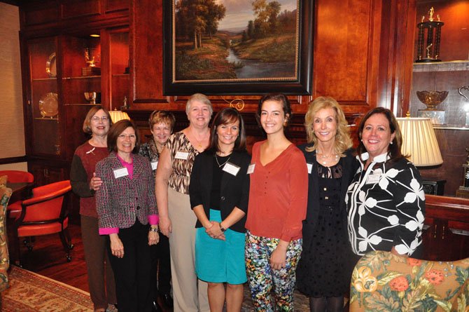
[[[195,158],[189,190],[197,216],[195,271],[209,284],[212,312],[223,311],[225,301],[227,311],[241,311],[250,162],[241,115],[223,109],[211,125],[209,149]]]

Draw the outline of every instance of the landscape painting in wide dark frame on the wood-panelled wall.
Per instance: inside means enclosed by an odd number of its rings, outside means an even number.
[[[313,0],[165,0],[165,95],[311,94]]]

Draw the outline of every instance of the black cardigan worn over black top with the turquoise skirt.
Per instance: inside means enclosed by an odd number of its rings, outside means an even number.
[[[213,177],[214,154],[211,151],[204,151],[195,157],[193,171],[190,175],[189,195],[190,207],[203,205],[207,217],[210,212],[210,194]],[[220,189],[220,210],[221,219],[230,215],[233,208],[237,207],[244,212],[248,211],[249,201],[249,175],[246,173],[248,165],[251,163],[251,156],[247,151],[233,151],[230,156],[230,163],[237,165],[240,169],[236,176],[222,171]],[[244,233],[246,229],[246,215],[237,223],[230,226],[233,231]],[[195,227],[200,228],[202,224],[197,220]]]

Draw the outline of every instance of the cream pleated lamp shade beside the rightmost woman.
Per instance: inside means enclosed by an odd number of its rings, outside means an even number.
[[[402,133],[402,154],[417,167],[441,165],[440,147],[430,118],[396,118]]]

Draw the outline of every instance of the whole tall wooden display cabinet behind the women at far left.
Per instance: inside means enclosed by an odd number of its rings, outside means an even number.
[[[97,93],[107,109],[130,98],[129,8],[130,0],[20,4],[26,152],[36,185],[69,179],[74,151],[88,139],[83,121],[94,104],[85,93]],[[78,200],[71,205],[76,221]]]

